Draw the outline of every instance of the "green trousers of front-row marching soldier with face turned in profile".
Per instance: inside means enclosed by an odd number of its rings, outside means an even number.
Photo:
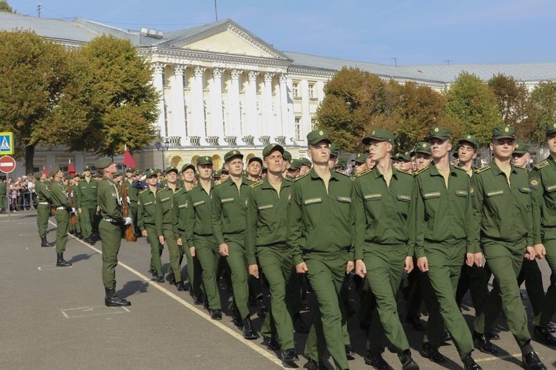
[[[395,295],[400,289],[400,282],[404,271],[405,252],[407,246],[366,246],[363,252],[363,262],[367,269],[367,280],[376,299],[378,316],[382,323],[384,335],[396,348],[398,356],[409,349],[409,342],[404,333],[400,317],[398,316],[398,303]],[[379,331],[382,331],[379,328]],[[369,342],[377,338],[384,338],[382,333],[369,330]],[[384,352],[384,346],[377,348]]]

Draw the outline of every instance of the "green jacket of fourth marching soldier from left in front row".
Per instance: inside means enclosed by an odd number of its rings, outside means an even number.
[[[211,183],[211,194],[214,183]],[[211,194],[206,194],[201,185],[191,188],[187,193],[186,205],[186,240],[188,247],[195,246],[195,235],[213,235]],[[184,242],[185,244],[185,242]]]

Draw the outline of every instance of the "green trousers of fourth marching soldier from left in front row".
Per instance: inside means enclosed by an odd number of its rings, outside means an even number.
[[[202,279],[208,308],[211,310],[222,310],[220,303],[220,292],[218,291],[218,279],[216,270],[220,261],[220,250],[215,237],[194,235],[195,255],[201,265]],[[189,271],[189,267],[188,267]]]

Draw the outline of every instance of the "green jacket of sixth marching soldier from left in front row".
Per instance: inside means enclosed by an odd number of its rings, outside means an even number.
[[[250,186],[245,215],[248,264],[256,264],[255,247],[287,245],[288,199],[292,185],[292,181],[284,178],[279,196],[268,178]]]

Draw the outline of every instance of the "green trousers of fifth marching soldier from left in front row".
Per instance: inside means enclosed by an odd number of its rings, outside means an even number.
[[[231,238],[234,240],[231,240]],[[243,235],[226,235],[228,256],[226,261],[230,267],[231,288],[234,291],[234,302],[241,319],[250,316],[249,285],[247,285],[247,257],[243,249]]]

